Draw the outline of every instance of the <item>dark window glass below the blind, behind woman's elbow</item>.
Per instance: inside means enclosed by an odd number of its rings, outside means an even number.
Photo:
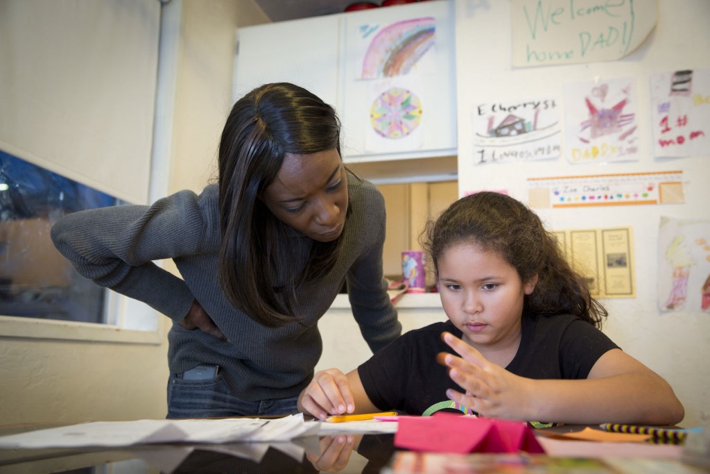
[[[107,291],[55,249],[50,229],[77,210],[121,204],[0,151],[0,315],[107,323]]]

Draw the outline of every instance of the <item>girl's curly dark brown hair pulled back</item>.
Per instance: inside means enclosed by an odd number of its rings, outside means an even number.
[[[591,297],[584,276],[564,258],[555,235],[520,201],[501,193],[476,193],[457,200],[436,222],[427,223],[424,247],[435,269],[447,249],[462,243],[496,252],[515,267],[523,282],[537,274],[523,311],[573,314],[601,328],[606,309]]]

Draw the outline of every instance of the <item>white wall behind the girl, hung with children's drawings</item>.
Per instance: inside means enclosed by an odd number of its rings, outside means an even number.
[[[545,4],[545,2],[543,2]],[[643,9],[645,2],[634,2]],[[685,204],[538,210],[557,230],[632,227],[635,298],[607,299],[610,316],[603,330],[623,350],[665,377],[684,404],[683,426],[710,424],[710,315],[661,314],[657,310],[657,244],[660,215],[708,219],[710,158],[654,158],[650,136],[648,75],[660,70],[710,67],[710,2],[658,1],[658,22],[650,37],[623,60],[540,68],[510,67],[510,1],[457,0],[457,87],[459,193],[507,189],[528,201],[529,177],[579,176],[639,171],[684,170]],[[630,163],[571,165],[555,161],[473,164],[472,107],[495,100],[561,96],[566,82],[595,77],[635,78],[640,160]],[[562,104],[564,113],[564,104]]]

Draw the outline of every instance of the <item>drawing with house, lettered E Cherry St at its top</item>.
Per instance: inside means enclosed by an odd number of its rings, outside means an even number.
[[[559,157],[561,130],[555,99],[484,103],[473,114],[474,163]]]

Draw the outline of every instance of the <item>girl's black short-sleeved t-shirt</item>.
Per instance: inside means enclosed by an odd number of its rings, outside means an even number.
[[[421,415],[449,402],[447,389],[461,391],[439,365],[439,352],[454,351],[441,339],[448,331],[461,338],[451,321],[411,330],[358,367],[371,402],[381,410]],[[599,357],[618,346],[577,316],[528,316],[521,324],[518,352],[506,370],[530,379],[586,379]]]

